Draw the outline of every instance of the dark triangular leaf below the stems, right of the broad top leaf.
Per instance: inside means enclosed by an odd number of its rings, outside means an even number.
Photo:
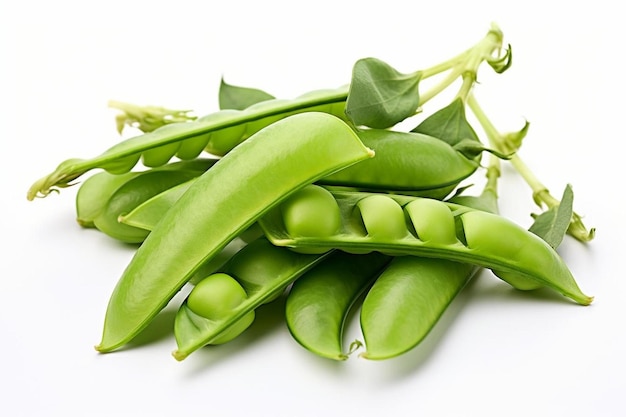
[[[428,116],[412,131],[434,136],[452,146],[464,139],[480,142],[476,131],[465,117],[465,102],[460,97]]]

